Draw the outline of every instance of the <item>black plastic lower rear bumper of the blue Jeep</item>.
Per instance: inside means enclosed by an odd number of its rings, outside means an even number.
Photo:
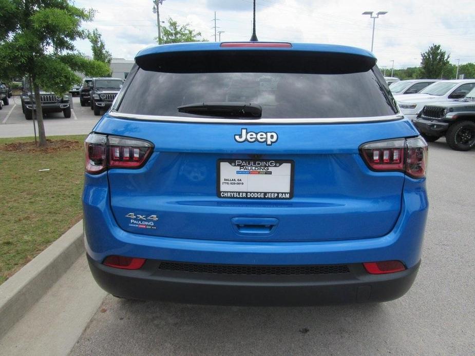
[[[129,299],[215,305],[318,305],[385,302],[404,295],[419,264],[391,274],[369,274],[362,264],[350,272],[321,275],[235,275],[161,270],[147,261],[140,270],[108,267],[87,255],[97,283]]]

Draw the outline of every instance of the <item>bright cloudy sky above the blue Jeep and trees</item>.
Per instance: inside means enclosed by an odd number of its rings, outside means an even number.
[[[96,10],[84,28],[98,28],[113,57],[133,59],[154,44],[157,17],[153,0],[76,0],[76,6]],[[214,12],[221,41],[249,41],[252,0],[164,0],[160,20],[169,17],[189,24],[202,37],[214,41]],[[387,11],[376,19],[373,52],[379,68],[419,66],[421,52],[440,44],[450,62],[475,62],[475,2],[452,0],[257,0],[259,41],[325,43],[371,49],[373,20],[365,11]],[[87,41],[77,41],[91,55]]]

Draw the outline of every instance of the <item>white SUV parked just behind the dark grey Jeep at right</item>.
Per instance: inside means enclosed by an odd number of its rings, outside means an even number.
[[[401,112],[409,120],[414,120],[424,105],[436,102],[462,99],[473,88],[475,79],[440,81],[429,85],[417,94],[394,95]]]

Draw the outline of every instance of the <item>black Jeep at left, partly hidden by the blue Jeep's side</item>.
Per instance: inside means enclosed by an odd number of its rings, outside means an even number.
[[[120,78],[92,78],[91,109],[94,115],[101,114],[101,109],[107,110],[112,105],[124,82]]]

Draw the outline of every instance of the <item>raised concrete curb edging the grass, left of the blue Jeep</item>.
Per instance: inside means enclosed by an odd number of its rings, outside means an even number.
[[[83,221],[0,285],[0,338],[84,253]]]

